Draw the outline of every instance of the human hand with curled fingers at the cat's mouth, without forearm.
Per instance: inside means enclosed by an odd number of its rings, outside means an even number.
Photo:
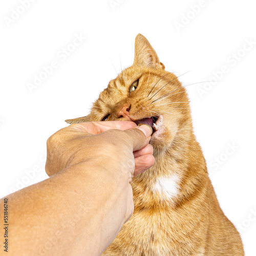
[[[145,130],[147,138],[141,130]],[[93,159],[104,166],[116,163],[116,167],[131,172],[132,176],[138,175],[155,161],[153,147],[148,144],[151,134],[149,126],[138,127],[131,121],[72,124],[48,139],[46,173],[52,176],[71,165]]]

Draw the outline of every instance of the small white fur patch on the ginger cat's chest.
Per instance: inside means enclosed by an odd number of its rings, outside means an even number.
[[[161,177],[157,179],[152,190],[162,194],[164,199],[173,199],[179,194],[179,181],[178,175]]]

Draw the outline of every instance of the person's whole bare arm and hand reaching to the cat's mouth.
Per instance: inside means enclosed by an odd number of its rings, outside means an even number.
[[[9,255],[100,255],[133,214],[132,177],[154,164],[151,133],[147,125],[109,121],[52,135],[50,178],[6,197]]]

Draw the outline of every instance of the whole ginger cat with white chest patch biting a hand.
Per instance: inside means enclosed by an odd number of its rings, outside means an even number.
[[[133,178],[134,214],[102,255],[244,255],[208,177],[188,102],[177,76],[165,71],[138,34],[133,66],[110,81],[88,116],[66,120],[131,120],[153,127],[155,164]]]

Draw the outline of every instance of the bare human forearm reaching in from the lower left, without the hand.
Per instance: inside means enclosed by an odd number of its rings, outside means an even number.
[[[10,254],[99,255],[129,217],[127,189],[124,177],[87,161],[17,191],[8,196]]]

